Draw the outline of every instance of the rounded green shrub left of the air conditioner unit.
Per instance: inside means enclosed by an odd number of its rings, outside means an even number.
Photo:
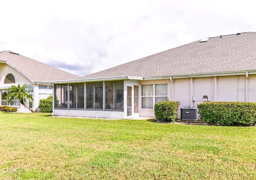
[[[176,101],[163,101],[155,104],[156,119],[163,122],[174,122],[178,118],[179,103]]]

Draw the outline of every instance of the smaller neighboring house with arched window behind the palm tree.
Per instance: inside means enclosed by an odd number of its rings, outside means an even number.
[[[7,103],[6,95],[12,85],[28,85],[33,102],[27,100],[27,106],[35,110],[40,99],[47,98],[53,90],[47,81],[79,78],[58,68],[27,58],[11,51],[0,52],[0,106],[15,106],[18,112],[30,112],[17,100]]]

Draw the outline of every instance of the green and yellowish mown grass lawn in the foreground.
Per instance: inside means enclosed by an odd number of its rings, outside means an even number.
[[[0,112],[0,179],[256,179],[256,127]]]

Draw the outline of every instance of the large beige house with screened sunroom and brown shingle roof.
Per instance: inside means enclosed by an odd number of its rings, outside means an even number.
[[[57,116],[154,117],[154,104],[168,98],[180,102],[180,109],[210,101],[256,102],[256,32],[204,38],[50,83]]]

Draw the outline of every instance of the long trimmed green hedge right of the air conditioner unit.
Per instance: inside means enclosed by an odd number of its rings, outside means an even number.
[[[204,102],[197,105],[200,119],[208,124],[252,126],[256,124],[254,102]]]

